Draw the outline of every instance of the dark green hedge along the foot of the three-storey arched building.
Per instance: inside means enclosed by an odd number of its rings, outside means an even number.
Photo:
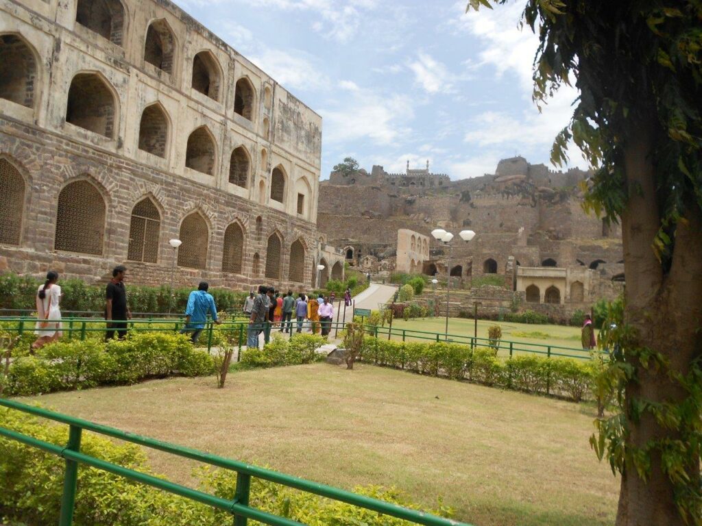
[[[35,308],[34,295],[44,281],[31,276],[17,274],[0,274],[0,309],[30,309]],[[79,279],[62,279],[61,308],[64,311],[98,311],[105,309],[105,285],[88,285]],[[176,288],[173,290],[174,299],[168,294],[166,285],[160,287],[145,287],[131,285],[127,282],[127,299],[133,312],[173,312],[185,311],[187,297],[194,288]],[[244,298],[248,292],[239,292],[224,288],[211,288],[210,292],[221,311],[241,311]],[[172,302],[172,304],[171,304]]]

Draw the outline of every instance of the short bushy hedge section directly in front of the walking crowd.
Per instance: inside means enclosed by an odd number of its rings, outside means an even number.
[[[276,337],[263,349],[246,349],[241,353],[241,367],[279,367],[324,360],[317,349],[327,341],[319,335],[296,334],[291,339]]]

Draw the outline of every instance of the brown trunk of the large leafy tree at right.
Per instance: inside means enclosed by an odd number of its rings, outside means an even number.
[[[638,348],[648,347],[670,360],[670,372],[687,375],[691,363],[702,354],[702,220],[691,198],[677,224],[673,264],[665,274],[652,248],[661,226],[656,199],[655,166],[650,152],[654,126],[635,127],[624,147],[628,207],[622,215],[625,288],[625,323],[636,331]],[[661,178],[662,180],[663,178]],[[630,349],[625,360],[635,369],[635,379],[625,387],[625,415],[630,436],[627,444],[643,448],[649,440],[680,438],[680,431],[656,422],[644,411],[640,419],[631,412],[633,400],[680,403],[688,393],[670,378],[665,367],[643,367]],[[652,364],[651,364],[652,365]],[[642,479],[633,464],[625,465],[617,512],[618,526],[682,526],[675,503],[674,486],[661,466],[661,452],[650,454],[650,473]],[[699,452],[687,466],[698,480]]]

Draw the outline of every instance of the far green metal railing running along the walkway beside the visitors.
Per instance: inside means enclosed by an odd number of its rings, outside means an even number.
[[[18,335],[22,335],[25,331],[33,331],[34,324],[37,323],[37,318],[29,316],[15,316],[15,317],[0,317],[0,323],[4,325],[4,330],[12,330]],[[65,318],[63,320],[62,331],[66,333],[68,339],[79,338],[81,340],[86,339],[91,332],[105,332],[107,330],[115,330],[114,327],[110,328],[107,326],[107,321],[102,318]],[[139,331],[149,331],[149,332],[177,332],[182,330],[185,326],[185,321],[183,319],[164,319],[164,318],[140,318],[132,319],[126,322],[128,330],[132,332]],[[289,334],[290,337],[296,334],[296,321],[292,321],[292,330]],[[9,325],[8,325],[9,324]],[[319,324],[319,322],[317,322]],[[309,328],[310,322],[305,321],[305,329]],[[254,328],[263,330],[267,327],[266,323],[260,323],[253,325]],[[279,330],[281,325],[277,323],[272,326],[272,332]],[[329,327],[334,336],[338,336],[339,331],[344,330],[345,323],[343,322],[329,322]],[[228,320],[220,325],[220,330],[224,332],[234,332],[238,334],[238,346],[239,346],[239,356],[241,355],[241,348],[246,344],[246,332],[249,328],[249,322],[244,319]],[[373,335],[375,337],[383,337],[386,339],[401,339],[403,342],[407,341],[432,341],[432,342],[452,342],[469,345],[471,348],[476,346],[491,347],[496,349],[498,352],[503,352],[505,355],[509,353],[512,357],[515,353],[533,353],[546,356],[548,358],[558,357],[558,358],[576,358],[580,360],[590,360],[590,353],[586,349],[581,347],[564,347],[558,345],[548,345],[548,344],[534,344],[527,342],[514,342],[510,340],[502,339],[498,342],[494,342],[489,338],[481,338],[475,336],[458,335],[458,334],[446,334],[444,332],[429,332],[423,330],[413,330],[406,328],[390,328],[390,327],[380,327],[376,325],[365,325],[366,333]],[[214,325],[211,321],[208,321],[204,329],[204,337],[206,337],[206,347],[208,351],[211,351],[213,342],[213,329]]]

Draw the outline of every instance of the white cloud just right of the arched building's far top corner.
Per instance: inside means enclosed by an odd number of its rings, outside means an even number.
[[[413,100],[404,95],[383,97],[370,90],[352,92],[341,109],[322,109],[324,142],[350,144],[369,139],[373,144],[390,145],[411,130],[406,122],[413,117]]]

